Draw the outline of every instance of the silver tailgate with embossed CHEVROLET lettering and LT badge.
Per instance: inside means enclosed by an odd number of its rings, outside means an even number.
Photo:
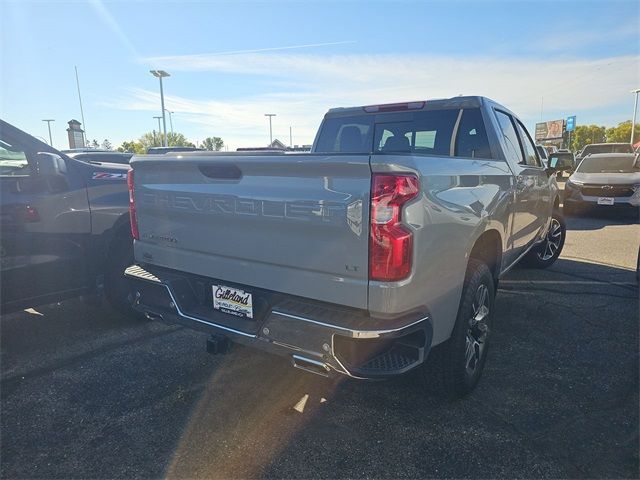
[[[367,308],[368,155],[138,157],[136,260]]]

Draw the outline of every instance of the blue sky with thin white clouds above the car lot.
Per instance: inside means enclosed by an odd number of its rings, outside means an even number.
[[[0,0],[0,116],[65,148],[80,119],[119,145],[157,128],[158,81],[191,141],[311,143],[335,106],[480,94],[530,129],[630,119],[640,87],[637,1]],[[235,52],[235,53],[234,53]],[[168,121],[168,120],[167,120]],[[167,128],[169,126],[167,125]]]

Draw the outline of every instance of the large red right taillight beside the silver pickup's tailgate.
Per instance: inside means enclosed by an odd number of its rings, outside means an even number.
[[[385,282],[411,273],[413,234],[401,224],[402,207],[418,195],[414,175],[373,174],[369,278]]]

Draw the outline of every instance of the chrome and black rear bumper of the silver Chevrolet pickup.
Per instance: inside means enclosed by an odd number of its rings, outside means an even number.
[[[138,265],[125,275],[133,307],[148,318],[288,356],[294,366],[321,375],[381,378],[405,373],[424,362],[433,337],[425,312],[375,318],[360,310],[273,293],[264,295],[264,312],[255,320],[239,321],[198,300],[193,275]]]

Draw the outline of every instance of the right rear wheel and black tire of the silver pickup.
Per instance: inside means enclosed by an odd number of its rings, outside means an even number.
[[[469,260],[451,337],[431,351],[424,367],[427,388],[447,399],[468,395],[482,376],[492,326],[494,283],[486,264],[473,258]],[[482,312],[481,306],[486,307],[486,311]]]

